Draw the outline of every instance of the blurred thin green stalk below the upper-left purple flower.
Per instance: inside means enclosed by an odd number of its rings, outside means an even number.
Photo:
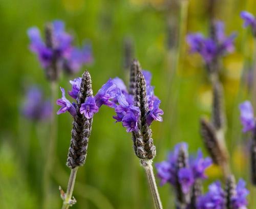
[[[43,195],[44,195],[44,203],[42,208],[48,208],[48,200],[49,200],[49,189],[50,189],[50,174],[52,170],[52,165],[54,163],[54,150],[56,144],[56,133],[57,133],[57,122],[55,117],[55,108],[54,104],[57,97],[57,84],[55,81],[51,82],[51,104],[53,105],[53,112],[50,122],[50,138],[47,143],[48,147],[46,148],[46,162],[43,174]]]

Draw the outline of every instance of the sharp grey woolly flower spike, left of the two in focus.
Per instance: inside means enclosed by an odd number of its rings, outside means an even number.
[[[84,72],[81,86],[77,97],[77,116],[74,117],[72,138],[68,153],[67,166],[74,169],[82,166],[86,160],[89,136],[92,128],[92,119],[87,119],[79,109],[87,98],[93,96],[91,76],[88,71]]]

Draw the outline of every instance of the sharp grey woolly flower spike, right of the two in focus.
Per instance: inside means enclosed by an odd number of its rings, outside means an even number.
[[[153,145],[152,130],[146,123],[148,103],[146,94],[146,81],[142,72],[138,72],[137,74],[134,105],[140,109],[138,127],[143,139],[143,142],[135,144],[141,144],[141,148],[143,148],[143,150],[146,152],[146,158],[153,159],[156,156],[156,147]],[[137,138],[135,141],[136,140]],[[138,140],[140,140],[140,137]]]

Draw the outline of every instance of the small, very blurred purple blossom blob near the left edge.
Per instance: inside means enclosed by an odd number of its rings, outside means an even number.
[[[52,105],[49,100],[44,100],[42,91],[32,86],[28,89],[22,112],[26,118],[33,121],[49,119],[52,115]]]

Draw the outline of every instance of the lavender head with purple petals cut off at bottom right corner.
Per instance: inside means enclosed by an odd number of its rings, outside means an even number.
[[[225,190],[221,188],[220,181],[210,184],[209,191],[198,198],[197,209],[246,209],[249,191],[245,184],[243,179],[236,184],[232,175],[226,179]]]

